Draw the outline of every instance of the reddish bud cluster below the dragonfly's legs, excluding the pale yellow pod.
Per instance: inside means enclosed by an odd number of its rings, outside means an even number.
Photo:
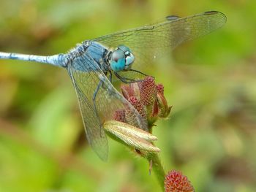
[[[164,96],[164,86],[156,84],[154,77],[147,76],[141,82],[133,82],[129,85],[121,85],[121,93],[135,107],[143,118],[148,122],[151,129],[158,118],[167,118],[171,107],[168,106]],[[124,123],[129,123],[125,119],[129,118],[129,109],[124,112],[117,111],[113,119]]]

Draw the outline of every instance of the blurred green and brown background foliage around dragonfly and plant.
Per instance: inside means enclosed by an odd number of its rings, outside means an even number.
[[[0,0],[0,50],[50,55],[166,15],[218,10],[224,28],[173,51],[151,74],[173,105],[154,134],[165,170],[196,191],[256,191],[256,1]],[[86,142],[67,71],[0,61],[0,191],[160,191],[148,162]]]

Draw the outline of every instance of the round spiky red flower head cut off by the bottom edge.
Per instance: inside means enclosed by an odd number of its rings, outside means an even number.
[[[165,192],[195,192],[188,178],[176,170],[165,176]]]

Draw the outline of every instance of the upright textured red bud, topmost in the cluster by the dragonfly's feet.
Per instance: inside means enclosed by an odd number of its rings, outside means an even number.
[[[154,103],[157,96],[156,83],[154,77],[146,77],[143,82],[140,82],[140,101],[148,106]]]

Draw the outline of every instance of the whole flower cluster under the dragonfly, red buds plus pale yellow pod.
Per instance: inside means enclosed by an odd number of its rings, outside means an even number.
[[[163,85],[157,85],[154,77],[145,77],[142,81],[121,85],[121,93],[129,104],[124,104],[124,109],[116,110],[113,120],[104,123],[105,131],[118,142],[132,147],[139,155],[158,153],[159,148],[153,144],[157,137],[151,134],[151,128],[158,118],[166,118],[171,108],[167,105]],[[146,120],[146,131],[136,125],[135,112],[130,105]]]

